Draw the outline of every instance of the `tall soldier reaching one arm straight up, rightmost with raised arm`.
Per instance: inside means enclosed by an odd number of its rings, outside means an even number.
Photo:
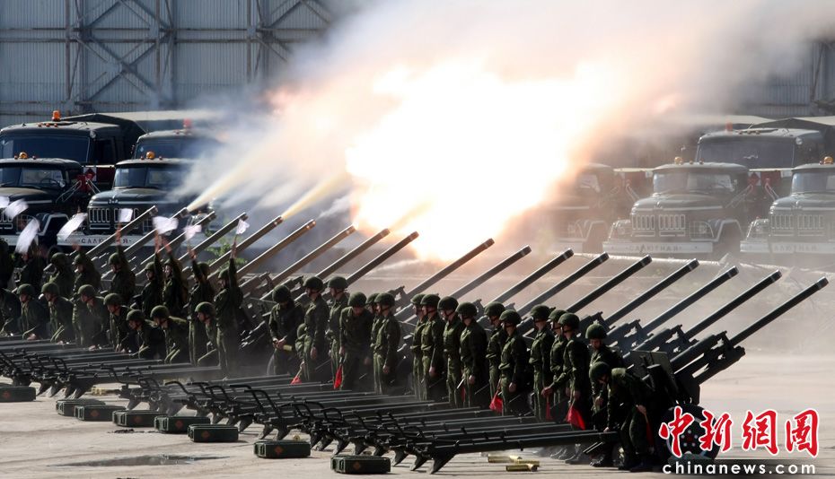
[[[235,266],[235,253],[238,248],[233,241],[229,252],[229,266],[217,274],[220,291],[215,294],[215,344],[217,360],[226,377],[231,377],[237,368],[238,345],[238,309],[243,303],[243,293],[238,284],[238,268]]]

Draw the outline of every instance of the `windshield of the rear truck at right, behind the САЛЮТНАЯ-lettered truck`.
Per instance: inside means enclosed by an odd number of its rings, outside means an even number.
[[[775,139],[741,136],[733,139],[702,140],[697,161],[737,163],[747,168],[791,168],[795,166],[793,138]]]

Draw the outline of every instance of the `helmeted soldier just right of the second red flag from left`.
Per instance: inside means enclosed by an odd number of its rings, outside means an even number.
[[[339,355],[342,357],[342,389],[366,390],[373,376],[371,327],[374,315],[365,309],[365,294],[355,292],[342,310]],[[365,376],[366,380],[361,379]]]

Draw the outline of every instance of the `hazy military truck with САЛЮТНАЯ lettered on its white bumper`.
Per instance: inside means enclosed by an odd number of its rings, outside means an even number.
[[[653,194],[611,225],[611,254],[717,257],[739,250],[756,209],[749,170],[734,163],[684,162],[653,170]]]

